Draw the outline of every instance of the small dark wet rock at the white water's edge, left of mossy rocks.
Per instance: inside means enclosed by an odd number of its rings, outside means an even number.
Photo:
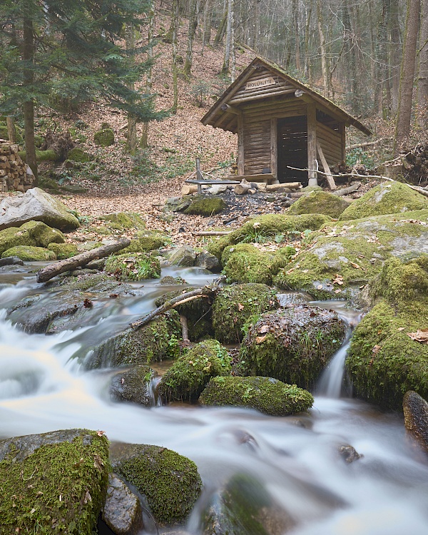
[[[146,365],[134,366],[113,375],[110,395],[117,401],[127,401],[150,407],[152,404],[150,381],[157,375]]]

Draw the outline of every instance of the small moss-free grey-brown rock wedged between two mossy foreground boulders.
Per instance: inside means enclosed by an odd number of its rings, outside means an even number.
[[[116,535],[138,535],[143,529],[140,500],[116,474],[108,476],[102,518]]]

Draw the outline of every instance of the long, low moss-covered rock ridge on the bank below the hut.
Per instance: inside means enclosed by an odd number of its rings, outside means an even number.
[[[322,225],[331,221],[327,215],[321,214],[267,214],[260,215],[241,228],[233,230],[228,235],[222,236],[218,240],[208,245],[209,253],[215,255],[219,260],[223,250],[228,245],[237,243],[264,243],[275,240],[275,236],[295,236],[305,230],[318,230]]]

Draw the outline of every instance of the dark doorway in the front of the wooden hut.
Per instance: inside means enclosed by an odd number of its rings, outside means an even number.
[[[306,116],[278,119],[278,180],[281,183],[300,181],[307,185],[307,119]]]

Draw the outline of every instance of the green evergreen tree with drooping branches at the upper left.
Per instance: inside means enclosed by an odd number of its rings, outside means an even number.
[[[148,62],[121,46],[123,29],[141,25],[143,0],[2,0],[0,113],[24,116],[26,161],[36,174],[34,110],[71,98],[103,98],[136,121],[159,119],[153,96],[133,84]]]

